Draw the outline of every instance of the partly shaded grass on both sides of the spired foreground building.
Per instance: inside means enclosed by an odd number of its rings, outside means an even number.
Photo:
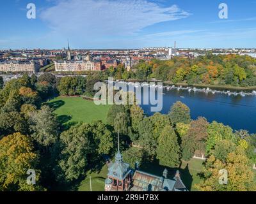
[[[124,161],[125,162],[125,161]],[[198,173],[202,171],[203,168],[202,160],[191,159],[189,162],[182,161],[182,164],[179,168],[180,177],[184,182],[185,186],[189,191],[198,191],[195,189],[194,185],[200,183],[201,179],[198,176]],[[162,176],[163,171],[166,166],[159,165],[158,161],[153,161],[150,163],[142,164],[140,167],[141,171],[146,171],[157,176]],[[177,169],[166,168],[168,170],[168,178],[172,178],[175,175]],[[88,171],[86,173],[86,179],[84,179],[79,187],[78,191],[90,191],[90,177],[92,178],[92,191],[104,191],[104,180],[108,174],[108,167],[105,164],[99,172]]]

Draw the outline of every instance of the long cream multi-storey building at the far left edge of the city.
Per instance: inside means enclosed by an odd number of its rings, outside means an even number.
[[[40,69],[38,61],[3,61],[0,62],[0,71],[4,72],[38,72]]]

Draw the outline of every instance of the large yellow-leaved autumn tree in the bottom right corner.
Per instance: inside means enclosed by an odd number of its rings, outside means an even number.
[[[227,147],[230,149],[231,146]],[[225,159],[225,161],[222,159],[221,161],[211,155],[202,172],[203,181],[196,184],[195,187],[200,191],[255,191],[256,184],[252,164],[244,150],[237,147],[225,157],[221,157]],[[220,170],[227,170],[227,184],[220,182],[220,177],[223,176]]]

